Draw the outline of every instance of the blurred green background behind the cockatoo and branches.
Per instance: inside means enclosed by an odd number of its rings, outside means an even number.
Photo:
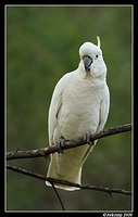
[[[111,93],[105,128],[131,122],[131,7],[7,8],[7,151],[48,146],[48,110],[58,80],[77,68],[85,41],[101,49]],[[81,182],[131,189],[131,133],[98,141]],[[48,158],[9,162],[47,174]],[[52,188],[8,170],[8,210],[61,210]],[[67,210],[130,210],[131,197],[97,191],[59,190]]]

